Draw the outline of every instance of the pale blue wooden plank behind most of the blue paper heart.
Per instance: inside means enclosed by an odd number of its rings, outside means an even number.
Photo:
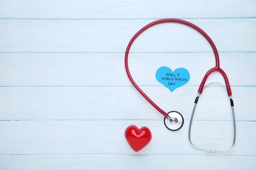
[[[199,86],[215,66],[211,53],[130,54],[129,69],[140,86],[161,86],[155,73],[161,66],[186,68]],[[220,53],[221,68],[232,86],[255,86],[256,53]],[[124,54],[0,54],[0,86],[131,86],[125,72]],[[224,79],[212,73],[207,82]]]

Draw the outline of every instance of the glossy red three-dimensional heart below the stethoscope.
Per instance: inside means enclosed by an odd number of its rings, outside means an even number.
[[[143,126],[139,129],[135,125],[130,125],[125,130],[125,139],[130,147],[138,152],[151,141],[152,134],[148,127]]]

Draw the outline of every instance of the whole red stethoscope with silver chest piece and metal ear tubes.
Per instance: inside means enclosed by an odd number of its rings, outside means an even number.
[[[129,53],[129,50],[131,48],[131,45],[132,43],[134,42],[134,40],[143,32],[145,31],[147,28],[151,27],[151,26],[154,26],[154,25],[157,25],[157,24],[160,24],[160,23],[168,23],[168,22],[172,22],[172,23],[180,23],[180,24],[184,24],[186,26],[189,26],[189,27],[192,27],[194,28],[195,30],[197,30],[199,33],[201,33],[207,40],[208,42],[210,43],[210,45],[212,46],[212,49],[213,49],[213,52],[214,52],[214,55],[215,55],[215,67],[214,68],[211,68],[209,69],[209,71],[207,71],[207,73],[205,74],[200,86],[199,86],[199,89],[198,89],[198,95],[197,97],[195,98],[195,104],[194,104],[194,108],[193,108],[193,111],[192,111],[192,116],[191,116],[191,119],[190,119],[190,122],[189,122],[189,143],[195,147],[195,148],[198,148],[198,149],[203,149],[207,152],[215,152],[216,150],[230,150],[234,144],[235,144],[235,140],[236,140],[236,123],[235,123],[235,113],[234,113],[234,104],[233,104],[233,99],[232,99],[232,92],[231,92],[231,88],[230,88],[230,84],[229,84],[229,81],[228,81],[228,78],[227,78],[227,75],[225,74],[225,72],[220,68],[220,60],[219,60],[219,56],[218,56],[218,51],[217,51],[217,48],[215,47],[215,44],[213,43],[213,41],[211,40],[211,38],[201,29],[199,28],[198,26],[195,26],[194,24],[192,23],[189,23],[185,20],[180,20],[180,19],[162,19],[162,20],[156,20],[152,23],[149,23],[148,25],[144,26],[143,28],[141,28],[133,37],[132,39],[130,40],[127,48],[126,48],[126,51],[125,51],[125,70],[126,70],[126,73],[128,75],[128,78],[130,79],[131,83],[134,85],[134,87],[137,89],[137,91],[139,91],[139,93],[155,108],[157,109],[157,111],[159,111],[161,114],[163,114],[164,117],[164,125],[166,126],[167,129],[169,130],[172,130],[172,131],[177,131],[179,130],[183,124],[184,124],[184,119],[183,119],[183,116],[177,112],[177,111],[170,111],[168,113],[166,113],[165,111],[163,111],[161,108],[159,108],[140,88],[139,86],[134,82],[133,78],[131,77],[131,74],[130,74],[130,71],[129,71],[129,68],[128,68],[128,53]],[[194,116],[194,113],[195,113],[195,108],[196,108],[196,105],[198,103],[198,100],[199,100],[199,96],[201,95],[202,91],[203,91],[203,88],[204,88],[204,84],[207,80],[207,77],[214,71],[218,71],[221,73],[221,75],[224,77],[224,80],[225,80],[225,84],[226,84],[226,87],[227,87],[227,94],[230,98],[230,104],[231,104],[231,109],[232,109],[232,114],[233,114],[233,131],[234,131],[234,134],[233,134],[233,144],[231,145],[231,147],[229,148],[216,148],[216,147],[201,147],[201,146],[196,146],[195,144],[193,144],[191,142],[191,136],[190,136],[190,133],[191,133],[191,125],[192,125],[192,120],[193,120],[193,116]],[[169,119],[169,121],[168,121]]]

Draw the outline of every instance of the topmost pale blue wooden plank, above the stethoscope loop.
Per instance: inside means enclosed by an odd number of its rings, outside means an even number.
[[[0,18],[145,19],[256,17],[254,0],[1,0]]]

